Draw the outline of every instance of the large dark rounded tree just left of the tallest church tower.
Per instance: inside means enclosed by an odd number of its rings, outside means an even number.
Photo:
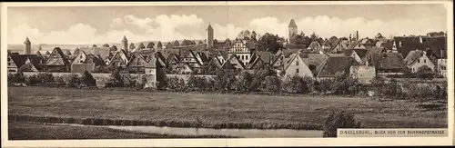
[[[278,35],[272,35],[266,33],[259,38],[258,44],[258,51],[269,51],[271,53],[277,53],[279,49],[283,48],[282,44],[279,44],[278,41],[284,40],[282,37],[278,37]]]

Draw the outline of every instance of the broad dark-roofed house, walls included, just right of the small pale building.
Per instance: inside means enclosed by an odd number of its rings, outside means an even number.
[[[407,70],[403,56],[399,53],[372,54],[366,64],[375,66],[376,73],[380,75],[403,74]]]

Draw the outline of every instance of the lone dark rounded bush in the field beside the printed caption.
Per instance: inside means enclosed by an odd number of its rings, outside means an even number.
[[[359,128],[360,123],[354,115],[343,111],[331,112],[324,123],[322,137],[337,137],[338,128]]]

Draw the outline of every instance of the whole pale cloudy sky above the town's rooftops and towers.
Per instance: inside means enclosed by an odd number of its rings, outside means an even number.
[[[8,7],[8,44],[104,44],[204,39],[207,25],[215,38],[234,39],[242,30],[288,37],[294,19],[298,32],[323,38],[380,33],[426,35],[447,31],[440,4],[403,5],[147,5]]]

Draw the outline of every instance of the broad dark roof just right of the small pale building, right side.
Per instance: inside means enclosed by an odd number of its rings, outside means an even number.
[[[404,70],[407,68],[403,56],[399,53],[373,54],[370,63],[378,70]]]

